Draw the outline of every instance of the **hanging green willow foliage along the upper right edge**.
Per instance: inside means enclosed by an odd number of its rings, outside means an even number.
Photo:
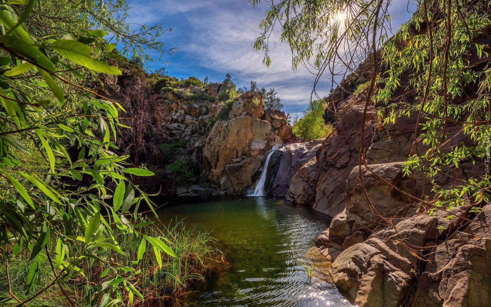
[[[488,61],[479,66],[469,58],[475,56],[477,62],[488,56],[484,50],[490,48],[489,43],[479,43],[474,38],[482,35],[482,29],[489,28],[491,8],[489,4],[477,2],[462,10],[460,2],[452,2],[443,19],[436,19],[420,5],[411,20],[384,44],[382,59],[384,63],[390,62],[391,69],[380,81],[384,86],[375,97],[389,110],[385,122],[394,122],[396,117],[413,112],[424,112],[420,113],[425,120],[419,128],[422,143],[428,149],[420,148],[419,153],[410,157],[404,164],[404,172],[409,174],[421,170],[431,178],[432,192],[435,193],[432,204],[447,210],[466,203],[469,196],[476,203],[490,199],[489,170],[484,176],[460,181],[458,188],[442,187],[435,181],[435,177],[448,167],[458,168],[461,163],[474,163],[474,159],[486,159],[490,154],[491,65]],[[448,5],[448,1],[439,0],[432,9],[442,10]],[[435,18],[431,31],[410,34],[413,25],[417,25],[416,30],[419,30],[419,25],[428,18]],[[450,28],[448,20],[452,20]],[[405,44],[398,46],[398,41]],[[448,43],[445,48],[440,48],[443,41]],[[401,106],[389,97],[401,88],[405,81],[403,72],[408,69],[411,74],[406,82],[416,90],[418,101]],[[448,140],[447,125],[454,122],[463,125],[463,132],[475,142],[473,145],[458,144],[450,151],[441,148],[441,144]]]

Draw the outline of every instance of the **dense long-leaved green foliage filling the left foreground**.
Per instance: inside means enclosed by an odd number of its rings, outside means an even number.
[[[143,59],[143,48],[164,52],[154,40],[161,31],[129,32],[124,22],[129,6],[122,0],[9,3],[0,8],[0,262],[22,255],[28,269],[19,286],[26,304],[55,287],[91,284],[87,261],[97,262],[114,283],[100,286],[102,280],[94,280],[98,286],[78,306],[95,306],[101,297],[110,305],[133,304],[134,296],[142,299],[130,282],[137,273],[121,272],[135,271],[130,261],[137,259],[120,243],[129,237],[146,240],[157,261],[174,251],[166,238],[148,236],[137,226],[140,203],[151,210],[153,203],[133,176],[153,173],[125,168],[128,156],[114,153],[124,110],[83,85],[99,73],[122,73],[108,65],[119,55],[103,38],[106,29],[123,52],[127,46]],[[80,188],[70,185],[82,180]],[[109,181],[118,187],[112,203]],[[108,252],[112,259],[102,256]],[[128,262],[114,261],[116,254]],[[47,267],[53,275],[43,273]],[[51,280],[39,284],[40,275]]]

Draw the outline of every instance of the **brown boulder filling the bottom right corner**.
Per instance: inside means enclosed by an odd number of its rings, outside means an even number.
[[[414,306],[491,306],[491,204],[474,221],[431,248]]]

